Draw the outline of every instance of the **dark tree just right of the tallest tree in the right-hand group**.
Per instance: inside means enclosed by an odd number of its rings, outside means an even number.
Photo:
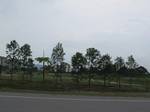
[[[98,62],[98,69],[104,75],[104,87],[105,87],[107,74],[112,73],[114,70],[111,57],[108,54],[103,55],[101,57],[101,59]]]

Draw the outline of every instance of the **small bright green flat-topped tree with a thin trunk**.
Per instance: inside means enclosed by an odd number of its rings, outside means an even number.
[[[35,59],[39,63],[43,63],[43,81],[45,80],[45,63],[49,63],[49,58],[48,57],[38,57]]]

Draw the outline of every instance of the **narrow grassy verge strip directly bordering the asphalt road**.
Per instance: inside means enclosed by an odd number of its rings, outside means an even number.
[[[47,95],[73,95],[73,96],[105,96],[105,97],[143,97],[150,98],[150,92],[93,92],[93,91],[36,91],[1,88],[0,92],[33,93]]]

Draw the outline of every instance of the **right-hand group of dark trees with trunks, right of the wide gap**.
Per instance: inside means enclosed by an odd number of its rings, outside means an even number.
[[[76,73],[77,82],[80,81],[83,72],[88,74],[89,88],[91,86],[91,79],[95,74],[104,76],[104,86],[106,85],[107,75],[111,73],[118,74],[119,86],[120,75],[133,77],[138,74],[148,74],[146,68],[139,66],[132,55],[128,57],[127,62],[122,57],[117,57],[113,63],[110,55],[101,55],[100,51],[95,48],[87,49],[85,55],[77,52],[72,57],[72,67],[73,72]]]

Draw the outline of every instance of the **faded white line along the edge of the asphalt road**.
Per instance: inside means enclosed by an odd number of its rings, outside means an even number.
[[[133,99],[87,99],[87,98],[51,98],[51,97],[30,97],[30,96],[10,96],[0,95],[0,98],[19,98],[33,100],[57,100],[57,101],[86,101],[86,102],[129,102],[129,103],[150,103],[150,100],[133,100]]]

